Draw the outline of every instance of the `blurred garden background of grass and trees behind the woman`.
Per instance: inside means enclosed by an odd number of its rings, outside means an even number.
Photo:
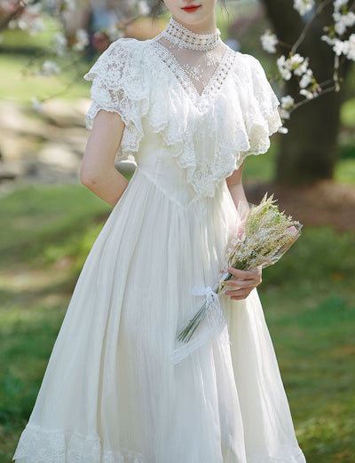
[[[295,80],[277,77],[260,36],[271,28],[332,81],[334,53],[320,40],[332,4],[317,17],[292,0],[227,0],[217,26],[234,50],[263,63],[281,98]],[[320,4],[320,2],[319,2]],[[0,1],[0,461],[12,458],[86,255],[110,208],[79,183],[89,132],[83,75],[114,40],[157,35],[169,20],[154,2]],[[280,53],[279,53],[280,55]],[[288,134],[250,156],[250,202],[274,192],[304,224],[259,294],[279,359],[296,435],[310,463],[355,461],[355,66],[343,60],[340,91],[285,120]],[[130,177],[134,165],[118,166]]]

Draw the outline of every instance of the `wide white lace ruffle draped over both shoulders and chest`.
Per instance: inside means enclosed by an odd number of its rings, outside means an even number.
[[[126,159],[138,152],[146,117],[198,196],[213,196],[248,154],[265,153],[281,125],[279,102],[260,63],[230,49],[201,95],[156,39],[120,39],[85,78],[93,81],[88,127],[100,108],[120,114],[126,127],[118,158]]]

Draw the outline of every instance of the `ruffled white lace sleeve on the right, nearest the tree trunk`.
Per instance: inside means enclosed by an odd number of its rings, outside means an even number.
[[[282,122],[278,111],[280,102],[266,78],[263,67],[256,58],[250,55],[244,56],[248,60],[250,71],[248,107],[245,110],[250,145],[248,151],[245,152],[247,156],[248,154],[266,153],[270,147],[269,137],[280,129]]]

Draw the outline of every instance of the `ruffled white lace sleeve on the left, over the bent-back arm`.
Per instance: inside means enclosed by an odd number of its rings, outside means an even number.
[[[138,40],[119,39],[102,53],[83,76],[86,81],[92,81],[92,103],[85,115],[86,127],[92,129],[100,109],[119,114],[125,123],[118,152],[119,161],[137,152],[144,135],[141,118],[149,104],[147,82],[141,78],[141,56]]]

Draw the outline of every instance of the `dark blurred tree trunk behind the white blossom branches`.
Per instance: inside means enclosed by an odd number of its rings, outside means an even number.
[[[269,18],[280,41],[293,44],[305,23],[293,9],[293,0],[264,0]],[[332,78],[334,53],[320,40],[323,27],[332,23],[333,5],[330,3],[313,20],[299,52],[310,58],[310,67],[318,82]],[[298,85],[293,78],[287,82],[286,92],[297,95]],[[340,92],[329,92],[299,107],[285,124],[289,132],[281,137],[277,161],[278,184],[306,184],[333,177],[338,157]]]

